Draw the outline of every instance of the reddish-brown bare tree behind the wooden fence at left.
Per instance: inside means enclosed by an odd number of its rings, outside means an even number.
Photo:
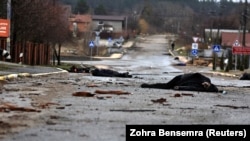
[[[13,0],[12,9],[12,43],[50,44],[60,64],[61,44],[70,37],[65,7],[55,0]]]

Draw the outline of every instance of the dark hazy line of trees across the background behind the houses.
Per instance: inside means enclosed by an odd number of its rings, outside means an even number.
[[[244,0],[61,0],[75,14],[127,15],[131,29],[197,34],[202,28],[238,29]],[[81,6],[79,6],[81,5]],[[201,34],[201,33],[199,33]]]

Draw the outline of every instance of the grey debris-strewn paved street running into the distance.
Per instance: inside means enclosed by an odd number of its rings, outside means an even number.
[[[66,73],[5,84],[0,104],[39,111],[0,111],[0,140],[125,141],[128,124],[249,124],[250,82],[209,74],[207,67],[173,66],[176,60],[167,55],[165,37],[146,36],[121,59],[75,61],[129,72],[132,78]],[[226,93],[140,88],[142,83],[168,82],[189,72],[206,74]],[[75,92],[93,95],[72,95]]]

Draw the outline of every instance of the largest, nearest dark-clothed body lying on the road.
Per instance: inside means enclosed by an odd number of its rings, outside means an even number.
[[[143,83],[141,87],[200,92],[219,92],[218,88],[211,83],[211,80],[200,73],[187,73],[178,75],[167,83]]]

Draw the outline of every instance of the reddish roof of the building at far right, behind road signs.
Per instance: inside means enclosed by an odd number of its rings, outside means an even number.
[[[250,47],[250,33],[245,34],[245,44]],[[243,33],[230,33],[222,32],[221,33],[221,45],[223,46],[233,46],[236,40],[242,45]]]

